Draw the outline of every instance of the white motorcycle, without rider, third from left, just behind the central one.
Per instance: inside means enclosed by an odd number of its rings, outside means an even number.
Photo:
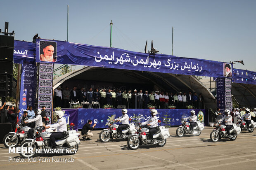
[[[119,129],[116,121],[114,121],[116,115],[112,115],[109,119],[107,125],[109,126],[107,129],[104,129],[100,132],[100,141],[101,142],[109,142],[110,139],[124,139],[128,138],[130,135],[134,134],[136,132],[134,123],[129,123],[129,127],[122,130],[123,137],[121,137]],[[118,120],[118,119],[117,119]],[[129,119],[130,121],[131,119]]]

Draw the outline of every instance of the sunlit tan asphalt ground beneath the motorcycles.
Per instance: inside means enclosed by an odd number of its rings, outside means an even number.
[[[48,154],[35,158],[49,158],[40,162],[22,159],[19,154],[9,154],[0,144],[0,170],[255,170],[256,132],[242,132],[237,140],[222,139],[211,142],[212,127],[206,127],[200,136],[177,137],[177,128],[169,128],[171,137],[164,147],[142,146],[130,150],[126,140],[102,143],[98,140],[101,130],[93,131],[90,141],[81,140],[75,155]],[[15,158],[15,159],[14,159]],[[71,162],[58,158],[70,158]],[[15,160],[15,161],[14,161]]]

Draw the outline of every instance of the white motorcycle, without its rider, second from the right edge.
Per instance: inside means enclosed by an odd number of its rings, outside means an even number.
[[[226,132],[226,126],[222,124],[223,117],[221,115],[218,115],[216,118],[216,121],[214,123],[214,126],[216,128],[213,129],[213,131],[210,134],[210,138],[213,142],[218,142],[221,138],[224,139],[230,139],[230,140],[236,140],[237,135],[241,133],[241,128],[237,126],[237,124],[233,123],[233,127],[230,129],[230,136],[228,136]]]

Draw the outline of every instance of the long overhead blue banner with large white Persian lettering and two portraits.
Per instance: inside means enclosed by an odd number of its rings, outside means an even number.
[[[229,63],[43,39],[37,39],[36,42],[36,62],[182,75],[232,77],[232,65]],[[229,68],[228,71],[226,68]]]

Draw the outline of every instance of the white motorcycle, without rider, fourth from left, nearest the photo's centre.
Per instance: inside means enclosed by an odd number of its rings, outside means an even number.
[[[130,135],[127,140],[127,145],[130,149],[138,149],[140,145],[157,145],[158,147],[164,147],[166,144],[166,139],[170,137],[170,133],[168,128],[165,128],[164,126],[159,126],[158,131],[153,135],[154,143],[151,143],[151,140],[149,139],[149,129],[143,128],[141,126],[140,120],[142,120],[143,117],[138,117],[135,123],[135,129],[137,132],[133,135]]]

